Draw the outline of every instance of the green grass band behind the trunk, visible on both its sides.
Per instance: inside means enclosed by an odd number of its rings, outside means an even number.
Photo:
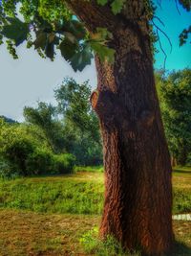
[[[173,177],[173,213],[191,212],[191,175]],[[103,174],[18,178],[0,180],[0,208],[57,214],[101,214]]]

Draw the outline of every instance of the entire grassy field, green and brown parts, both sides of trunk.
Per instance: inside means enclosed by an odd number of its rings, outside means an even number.
[[[98,226],[103,202],[103,174],[82,171],[0,181],[0,256],[107,256],[79,243]],[[174,213],[191,213],[191,169],[176,169],[173,187]],[[183,244],[173,256],[191,255],[191,221],[174,221],[174,229]]]

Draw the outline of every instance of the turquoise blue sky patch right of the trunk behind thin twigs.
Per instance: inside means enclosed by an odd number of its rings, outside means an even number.
[[[175,0],[165,0],[160,2],[161,8],[158,7],[156,15],[159,16],[165,27],[163,27],[157,19],[154,21],[165,34],[168,35],[172,42],[172,52],[170,52],[171,47],[168,40],[164,35],[159,33],[162,48],[167,54],[166,69],[172,70],[191,67],[191,45],[187,43],[182,47],[179,46],[179,35],[184,28],[191,25],[191,14],[184,11],[180,5],[179,14],[175,5]],[[157,48],[159,49],[159,43],[157,43]],[[156,55],[155,67],[163,67],[163,61],[164,56],[159,49],[159,54]]]

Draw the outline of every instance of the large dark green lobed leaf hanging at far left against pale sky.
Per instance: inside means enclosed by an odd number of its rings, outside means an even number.
[[[14,40],[15,45],[18,46],[27,39],[27,35],[30,32],[29,24],[16,17],[8,17],[7,20],[8,24],[3,26],[1,34]]]

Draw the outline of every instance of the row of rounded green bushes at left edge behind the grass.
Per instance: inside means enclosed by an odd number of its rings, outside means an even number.
[[[43,139],[35,140],[25,128],[1,128],[1,177],[70,174],[74,170],[74,160],[73,154],[53,153]]]

